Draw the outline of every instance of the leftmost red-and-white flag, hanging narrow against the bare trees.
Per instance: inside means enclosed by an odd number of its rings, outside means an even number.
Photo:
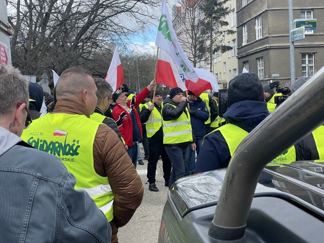
[[[113,92],[115,92],[121,84],[124,84],[124,72],[118,55],[118,47],[116,47],[113,53],[105,80],[111,86]]]

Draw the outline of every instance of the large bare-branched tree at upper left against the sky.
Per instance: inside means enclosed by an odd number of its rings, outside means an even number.
[[[13,65],[33,75],[51,69],[60,74],[72,65],[98,69],[98,57],[135,33],[132,22],[150,17],[147,9],[155,5],[154,0],[8,1]]]

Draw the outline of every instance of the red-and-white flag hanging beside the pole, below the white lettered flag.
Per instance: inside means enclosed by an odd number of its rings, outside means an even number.
[[[156,83],[164,84],[170,88],[179,87],[183,91],[187,90],[180,77],[178,68],[171,57],[162,49],[160,49],[158,53]]]

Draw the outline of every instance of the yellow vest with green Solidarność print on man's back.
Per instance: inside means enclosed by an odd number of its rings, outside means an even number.
[[[107,177],[94,169],[93,143],[101,123],[85,115],[49,113],[33,120],[21,138],[36,149],[60,158],[76,179],[75,189],[91,192],[91,197],[108,221],[113,219],[113,193]],[[104,188],[99,192],[100,188]]]

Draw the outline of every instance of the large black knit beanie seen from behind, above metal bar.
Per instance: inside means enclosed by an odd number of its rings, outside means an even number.
[[[240,73],[230,80],[227,90],[228,107],[232,104],[243,101],[264,101],[263,87],[256,73]]]

